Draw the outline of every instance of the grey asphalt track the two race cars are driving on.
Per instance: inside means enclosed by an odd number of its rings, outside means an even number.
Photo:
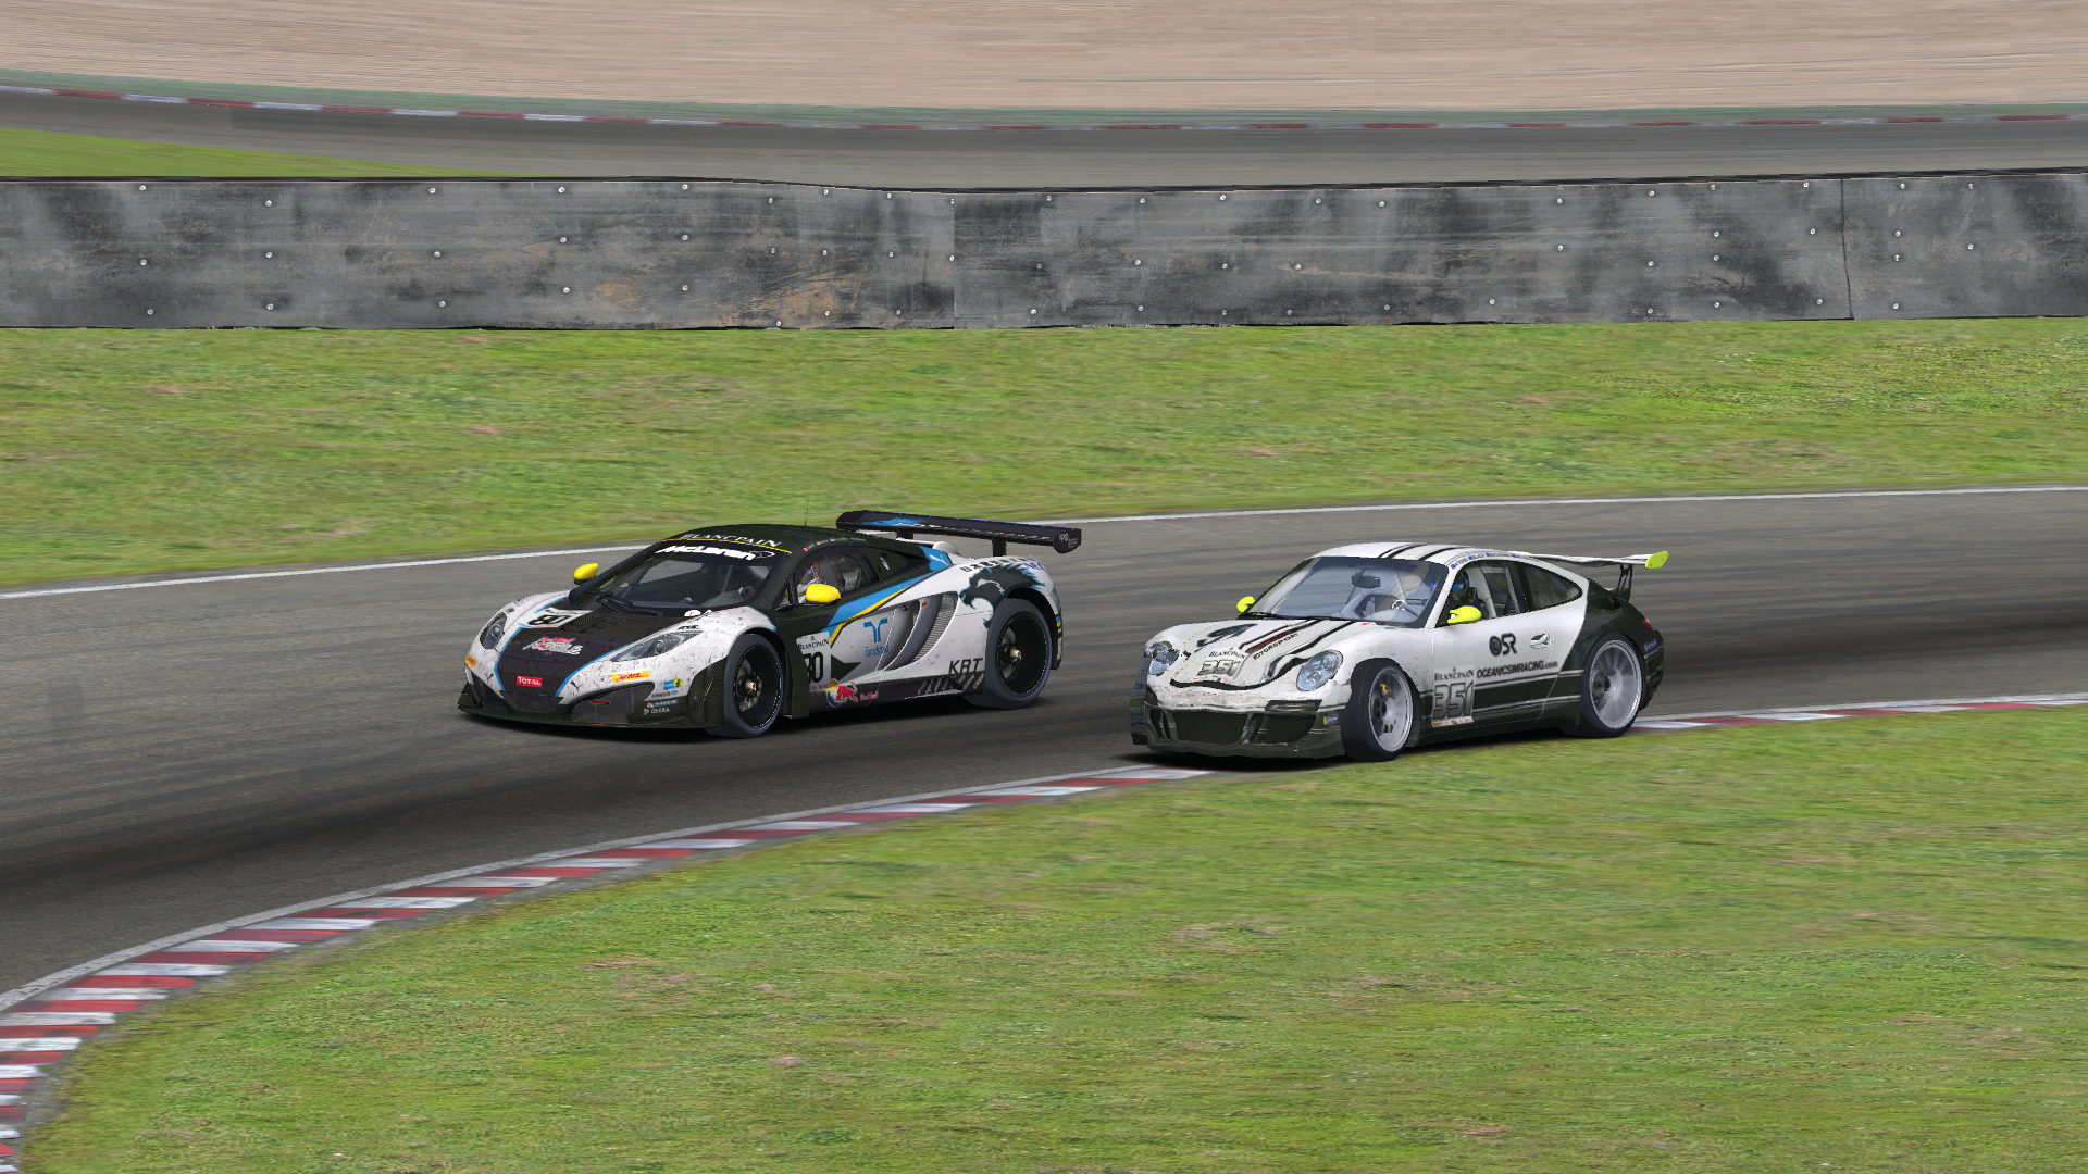
[[[0,664],[15,714],[0,988],[438,869],[1144,762],[1123,712],[1144,639],[1230,614],[1345,541],[1672,549],[1637,589],[1670,641],[1650,712],[2082,689],[2082,506],[2084,493],[2007,493],[1090,524],[1079,551],[1044,556],[1069,639],[1038,706],[923,702],[754,742],[453,708],[484,616],[562,583],[576,558],[0,600],[15,631]]]

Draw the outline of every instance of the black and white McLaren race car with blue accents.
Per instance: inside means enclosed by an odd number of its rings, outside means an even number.
[[[986,539],[994,556],[915,535]],[[674,535],[501,608],[464,654],[457,708],[722,737],[942,694],[1021,708],[1059,666],[1065,627],[1050,572],[1009,543],[1065,554],[1079,531],[854,510],[835,529]]]

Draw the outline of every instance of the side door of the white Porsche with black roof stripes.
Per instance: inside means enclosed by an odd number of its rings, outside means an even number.
[[[1457,608],[1478,608],[1480,618],[1449,623]],[[1556,641],[1543,625],[1547,641]],[[1558,658],[1531,648],[1528,600],[1508,560],[1470,562],[1451,581],[1434,629],[1430,687],[1434,729],[1460,725],[1514,725],[1535,719],[1551,696]]]

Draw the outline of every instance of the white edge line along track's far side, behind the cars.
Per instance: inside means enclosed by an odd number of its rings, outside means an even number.
[[[1639,506],[1656,501],[1802,501],[1819,497],[1963,497],[1971,493],[2088,493],[2088,485],[2004,485],[1988,489],[1848,489],[1823,493],[1700,493],[1681,497],[1510,497],[1499,501],[1407,501],[1395,506],[1303,506],[1295,510],[1207,510],[1192,514],[1117,514],[1111,518],[1052,518],[1054,526],[1098,526],[1102,522],[1173,522],[1192,518],[1267,518],[1282,514],[1372,514],[1391,510],[1480,510],[1487,506]],[[190,583],[232,583],[238,579],[292,579],[299,574],[340,574],[345,570],[399,570],[407,566],[447,566],[455,562],[501,562],[509,558],[553,558],[564,554],[608,554],[645,549],[639,545],[603,545],[585,549],[530,549],[522,554],[480,554],[468,558],[418,558],[411,562],[357,562],[351,566],[313,566],[307,570],[255,570],[244,574],[200,574],[194,579],[155,579],[148,583],[106,583],[98,587],[48,587],[40,591],[0,591],[0,600],[35,595],[84,595],[92,591],[134,591],[138,587],[186,587]]]

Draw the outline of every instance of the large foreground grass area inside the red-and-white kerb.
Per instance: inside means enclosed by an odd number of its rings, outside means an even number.
[[[2088,712],[1259,771],[269,963],[35,1174],[2048,1174]]]

